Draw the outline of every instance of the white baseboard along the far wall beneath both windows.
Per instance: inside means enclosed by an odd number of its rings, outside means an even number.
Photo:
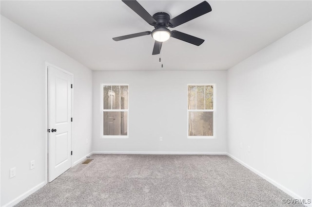
[[[227,155],[226,152],[143,152],[143,151],[94,151],[93,154],[143,154],[143,155]]]

